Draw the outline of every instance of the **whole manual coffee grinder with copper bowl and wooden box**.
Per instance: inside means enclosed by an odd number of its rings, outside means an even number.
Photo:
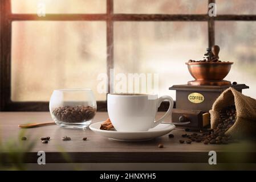
[[[169,90],[176,90],[176,109],[172,112],[173,122],[190,122],[180,125],[186,129],[204,129],[210,125],[209,110],[216,98],[229,87],[242,92],[249,86],[223,80],[230,71],[233,62],[219,60],[219,46],[206,49],[204,60],[189,60],[189,73],[195,80],[187,84],[173,85]]]

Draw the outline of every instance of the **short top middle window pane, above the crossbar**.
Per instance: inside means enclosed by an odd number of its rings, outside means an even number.
[[[115,0],[115,13],[205,14],[208,0]]]

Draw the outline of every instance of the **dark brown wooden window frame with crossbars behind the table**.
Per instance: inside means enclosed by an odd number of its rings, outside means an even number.
[[[84,20],[104,21],[107,23],[107,75],[108,90],[110,90],[110,69],[114,67],[113,59],[113,22],[115,21],[182,21],[182,22],[208,22],[208,45],[215,42],[215,21],[255,21],[256,15],[217,15],[210,17],[208,14],[115,14],[113,13],[113,1],[106,0],[107,10],[104,14],[47,14],[38,17],[36,14],[13,14],[11,13],[11,0],[1,0],[0,3],[0,111],[48,111],[48,102],[14,102],[11,101],[11,22],[17,20]],[[215,0],[208,0],[215,3]],[[166,88],[168,89],[168,88]],[[161,104],[159,110],[168,109],[168,103]],[[98,111],[107,111],[107,101],[97,101]]]

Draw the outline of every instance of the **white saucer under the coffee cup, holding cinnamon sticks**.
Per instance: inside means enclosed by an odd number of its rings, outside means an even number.
[[[162,135],[168,134],[175,128],[172,124],[159,124],[148,131],[120,132],[116,130],[100,130],[101,123],[103,122],[92,123],[89,127],[96,134],[103,137],[127,142],[150,140],[156,137],[161,137]]]

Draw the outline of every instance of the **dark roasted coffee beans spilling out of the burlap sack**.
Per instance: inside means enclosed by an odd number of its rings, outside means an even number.
[[[192,142],[204,142],[204,144],[229,144],[236,143],[237,140],[231,138],[231,136],[226,135],[225,132],[229,130],[231,126],[234,125],[237,119],[237,112],[235,106],[229,106],[220,111],[220,123],[216,129],[210,129],[202,134],[182,134],[181,137],[188,138],[186,143],[190,144]],[[184,140],[180,140],[180,143],[184,143]]]

